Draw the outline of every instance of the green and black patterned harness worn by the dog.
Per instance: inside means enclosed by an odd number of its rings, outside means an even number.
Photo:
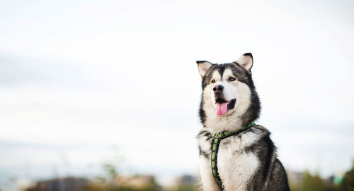
[[[238,135],[242,131],[251,128],[253,125],[255,125],[254,121],[249,123],[249,125],[244,126],[244,128],[241,128],[239,130],[236,130],[234,132],[222,132],[222,133],[212,133],[213,141],[212,141],[212,175],[214,176],[215,182],[217,185],[219,185],[221,190],[224,190],[224,186],[222,185],[222,181],[220,179],[219,173],[217,172],[217,152],[219,150],[219,144],[221,140],[230,137],[232,135]]]

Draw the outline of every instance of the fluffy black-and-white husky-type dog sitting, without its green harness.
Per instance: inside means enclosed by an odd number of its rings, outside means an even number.
[[[251,53],[232,63],[197,63],[202,76],[199,113],[204,126],[198,134],[200,190],[290,190],[270,133],[261,125],[219,142],[217,173],[222,186],[217,184],[211,167],[212,136],[252,124],[261,104],[251,78]]]

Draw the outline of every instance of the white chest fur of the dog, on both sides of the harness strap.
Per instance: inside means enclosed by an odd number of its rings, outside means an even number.
[[[247,181],[258,168],[256,154],[247,149],[256,140],[258,135],[253,132],[221,140],[217,154],[217,168],[225,190],[246,190]],[[212,138],[199,137],[199,144],[201,152],[205,152],[204,155],[200,155],[200,168],[203,168],[200,169],[202,185],[209,185],[211,182],[214,184],[212,187],[215,187],[210,161]],[[203,190],[209,189],[203,187]]]

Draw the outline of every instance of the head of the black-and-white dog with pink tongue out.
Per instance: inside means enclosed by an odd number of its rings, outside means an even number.
[[[258,118],[260,104],[251,78],[251,53],[233,63],[197,63],[202,77],[200,117],[205,126],[224,125],[218,122],[225,121],[229,121],[227,125],[237,125],[232,124],[236,121],[244,125]]]

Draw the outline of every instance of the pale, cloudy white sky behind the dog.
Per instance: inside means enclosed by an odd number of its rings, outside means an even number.
[[[353,1],[0,2],[0,181],[197,174],[195,61],[246,52],[285,168],[352,165]]]

